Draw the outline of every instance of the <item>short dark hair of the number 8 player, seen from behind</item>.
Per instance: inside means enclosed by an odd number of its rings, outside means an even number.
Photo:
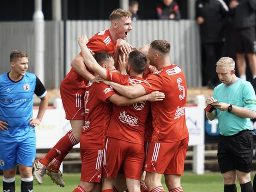
[[[135,73],[141,74],[146,68],[147,57],[140,51],[132,51],[128,57],[128,64],[131,66]]]

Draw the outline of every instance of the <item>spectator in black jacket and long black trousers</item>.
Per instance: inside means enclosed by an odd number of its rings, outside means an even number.
[[[224,52],[224,27],[228,6],[223,0],[196,0],[196,21],[200,26],[203,86],[219,82],[216,62]]]

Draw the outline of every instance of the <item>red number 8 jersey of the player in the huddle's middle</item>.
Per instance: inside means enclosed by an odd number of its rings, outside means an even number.
[[[129,77],[107,70],[107,80],[122,85],[136,85],[143,82],[140,77]],[[144,145],[145,122],[148,117],[150,103],[143,101],[130,106],[113,104],[113,114],[108,127],[107,136],[127,142]]]

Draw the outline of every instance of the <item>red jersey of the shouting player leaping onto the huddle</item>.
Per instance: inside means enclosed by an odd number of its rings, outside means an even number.
[[[112,40],[109,30],[104,30],[96,33],[92,38],[89,39],[87,47],[91,54],[100,51],[106,51],[110,54],[114,54],[116,43]],[[79,53],[82,56],[82,52]],[[88,70],[88,68],[87,68]],[[90,70],[88,70],[90,71]],[[92,71],[90,71],[94,74]],[[78,88],[85,88],[88,84],[88,80],[80,76],[73,68],[62,80],[62,86],[68,88],[69,90],[77,90]]]

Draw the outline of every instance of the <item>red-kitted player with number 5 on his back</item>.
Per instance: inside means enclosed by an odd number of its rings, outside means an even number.
[[[182,69],[170,62],[170,43],[154,40],[148,51],[150,64],[158,72],[152,73],[144,82],[134,86],[123,86],[104,81],[120,94],[134,98],[158,90],[165,99],[151,103],[153,133],[144,169],[146,185],[152,192],[163,192],[162,174],[170,192],[183,192],[180,175],[183,174],[188,148],[186,126],[186,79]]]

